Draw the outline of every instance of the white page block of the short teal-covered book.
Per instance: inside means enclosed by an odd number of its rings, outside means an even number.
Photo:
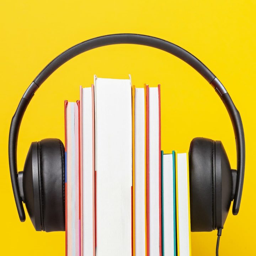
[[[164,255],[174,256],[174,170],[172,154],[163,156]],[[176,247],[176,246],[175,246]],[[176,254],[175,254],[176,255]]]

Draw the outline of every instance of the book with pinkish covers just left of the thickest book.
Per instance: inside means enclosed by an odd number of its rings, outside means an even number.
[[[81,255],[95,256],[94,85],[80,86],[81,105]]]

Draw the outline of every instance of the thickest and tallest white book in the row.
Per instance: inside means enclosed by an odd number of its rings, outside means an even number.
[[[96,254],[132,255],[130,79],[95,76]]]

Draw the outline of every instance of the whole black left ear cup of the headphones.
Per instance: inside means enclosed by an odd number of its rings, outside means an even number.
[[[65,149],[59,139],[32,142],[22,178],[23,201],[37,231],[65,230]]]

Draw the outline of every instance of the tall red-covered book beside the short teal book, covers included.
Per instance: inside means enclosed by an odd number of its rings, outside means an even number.
[[[161,107],[160,85],[146,86],[147,256],[161,248]]]

